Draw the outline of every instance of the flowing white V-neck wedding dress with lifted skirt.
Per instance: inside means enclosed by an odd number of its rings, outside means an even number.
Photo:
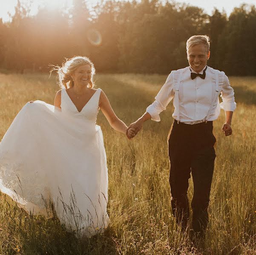
[[[27,103],[0,142],[0,190],[27,212],[52,216],[50,201],[69,231],[103,232],[109,218],[108,173],[98,88],[78,112],[65,89],[61,110]]]

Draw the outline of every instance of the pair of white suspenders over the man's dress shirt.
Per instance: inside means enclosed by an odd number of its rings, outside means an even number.
[[[178,99],[178,91],[179,91],[179,86],[180,86],[180,83],[181,83],[181,77],[182,77],[182,74],[183,74],[183,70],[184,69],[181,69],[181,72],[178,76],[178,82],[177,82],[177,85],[174,86],[174,98],[173,98],[173,104],[175,105],[176,107],[176,120],[179,122],[180,121],[180,112],[179,112],[179,99]],[[218,99],[218,96],[219,96],[219,73],[218,73],[218,70],[215,70],[215,93],[214,93],[214,96],[213,96],[213,101],[212,101],[212,104],[210,106],[210,109],[207,113],[207,116],[205,117],[205,122],[207,123],[207,120],[209,119],[210,117],[210,113],[211,111],[213,110],[213,106],[215,104],[215,102],[217,101]],[[174,77],[173,77],[173,84],[174,83]]]

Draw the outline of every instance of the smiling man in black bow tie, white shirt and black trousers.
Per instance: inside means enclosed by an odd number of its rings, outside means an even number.
[[[173,99],[174,122],[168,136],[171,205],[176,222],[183,230],[186,229],[190,213],[187,190],[191,172],[194,186],[192,228],[200,237],[204,237],[208,224],[207,208],[216,157],[213,121],[223,109],[226,122],[222,132],[225,136],[232,135],[231,119],[236,108],[234,91],[227,76],[207,66],[209,49],[209,37],[206,35],[190,37],[187,40],[189,66],[169,74],[155,102],[127,129],[127,137],[131,139],[146,120],[159,122],[159,113]]]

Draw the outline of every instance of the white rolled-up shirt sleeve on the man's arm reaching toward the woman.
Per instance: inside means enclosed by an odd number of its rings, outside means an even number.
[[[166,110],[167,105],[173,99],[173,74],[170,73],[167,77],[166,82],[164,83],[161,90],[158,92],[155,97],[155,101],[149,105],[146,109],[146,112],[150,114],[151,119],[159,122],[160,116],[159,114]]]

